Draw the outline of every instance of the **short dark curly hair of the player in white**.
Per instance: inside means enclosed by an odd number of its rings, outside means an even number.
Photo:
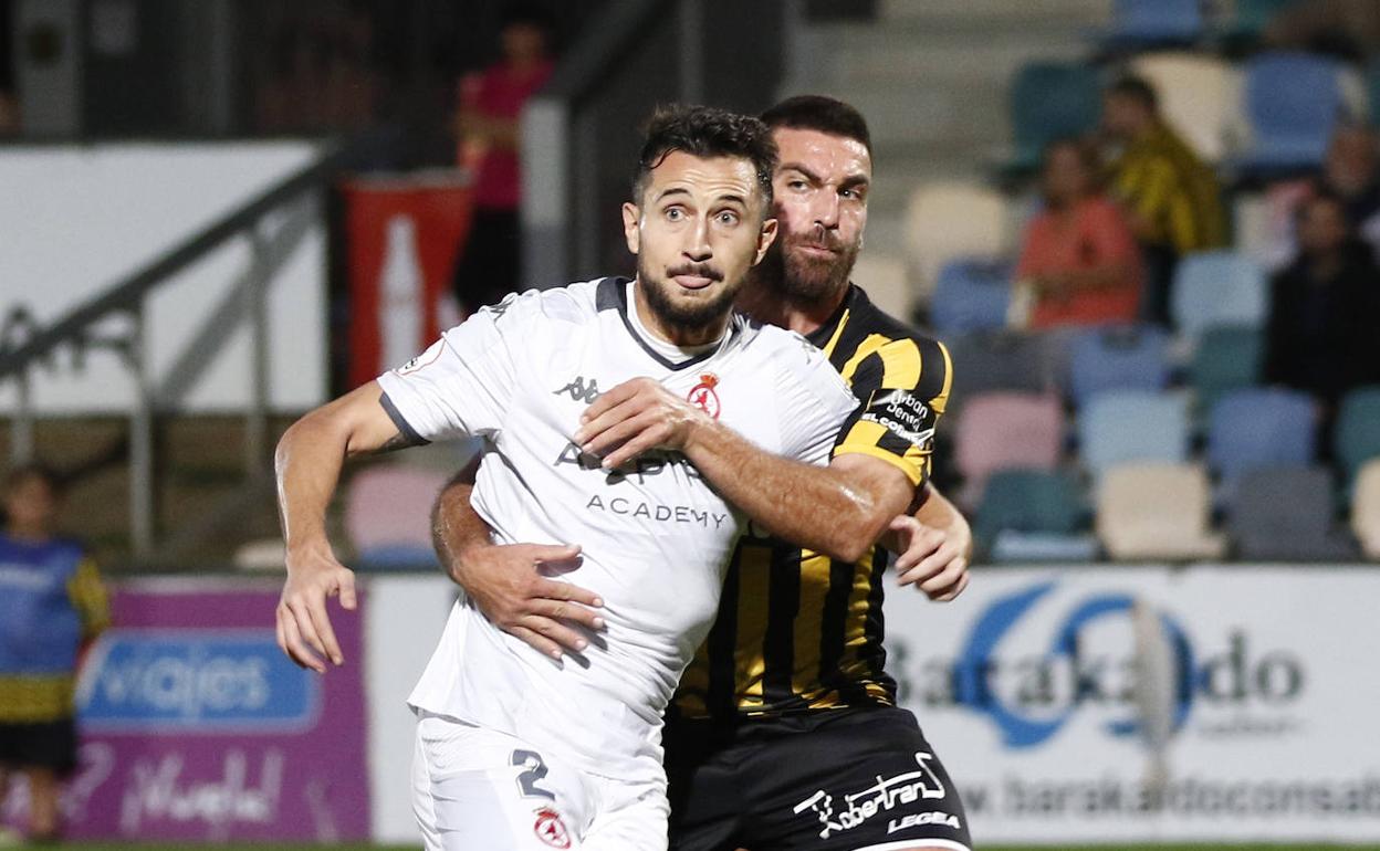
[[[776,171],[776,142],[760,120],[712,106],[668,106],[647,121],[646,141],[632,178],[633,201],[642,203],[651,170],[672,152],[693,157],[737,157],[752,163],[762,211],[771,210],[771,174]]]

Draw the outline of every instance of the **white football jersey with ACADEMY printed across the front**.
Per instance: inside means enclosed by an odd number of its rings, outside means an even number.
[[[500,543],[578,543],[569,579],[603,597],[607,622],[581,659],[558,663],[457,603],[408,703],[624,779],[661,771],[661,712],[709,630],[745,519],[680,454],[602,469],[571,441],[581,412],[650,377],[763,450],[824,465],[857,406],[805,338],[741,316],[718,345],[667,357],[629,314],[632,287],[609,277],[509,297],[378,379],[408,436],[487,440],[475,509]]]

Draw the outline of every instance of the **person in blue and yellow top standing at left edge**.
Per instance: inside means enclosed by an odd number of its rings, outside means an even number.
[[[72,702],[81,648],[106,626],[105,589],[81,548],[55,532],[58,477],[10,472],[0,534],[0,796],[11,771],[29,781],[29,834],[61,833],[58,783],[77,764]]]

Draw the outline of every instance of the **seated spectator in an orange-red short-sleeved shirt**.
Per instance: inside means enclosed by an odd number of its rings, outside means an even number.
[[[1097,178],[1092,145],[1068,139],[1045,150],[1045,208],[1025,230],[1016,268],[1017,286],[1034,291],[1032,328],[1136,320],[1140,252]]]

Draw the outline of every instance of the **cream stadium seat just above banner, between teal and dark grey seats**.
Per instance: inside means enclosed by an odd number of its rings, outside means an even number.
[[[1225,539],[1209,530],[1210,503],[1201,466],[1115,466],[1097,492],[1097,537],[1116,560],[1220,559]]]

